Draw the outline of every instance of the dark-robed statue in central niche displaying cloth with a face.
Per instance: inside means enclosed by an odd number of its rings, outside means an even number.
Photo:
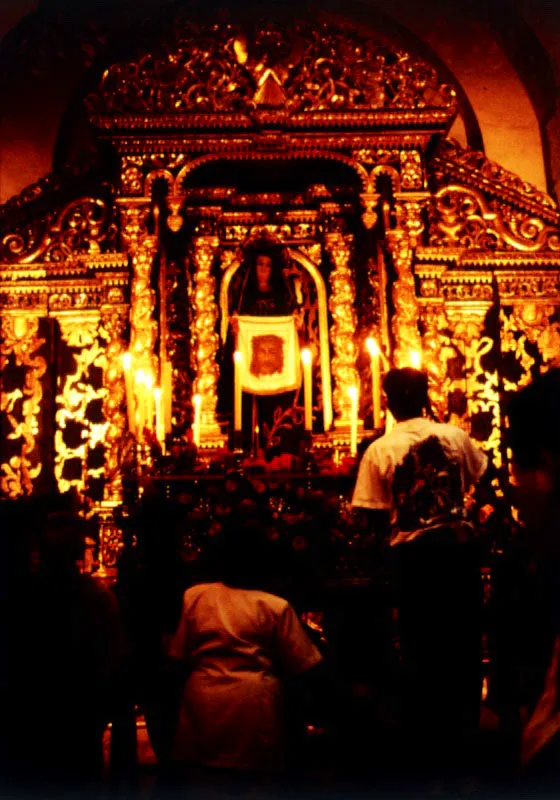
[[[305,300],[307,295],[312,305],[313,297],[309,287],[303,291],[301,272],[286,248],[263,237],[247,246],[228,292],[222,389],[231,398],[231,362],[238,350],[243,361],[244,448],[252,445],[268,459],[296,454],[303,439],[300,346],[309,346]]]

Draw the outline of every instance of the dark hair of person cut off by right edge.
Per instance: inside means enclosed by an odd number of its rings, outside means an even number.
[[[539,375],[510,400],[508,444],[525,470],[543,464],[544,454],[560,460],[560,369]]]

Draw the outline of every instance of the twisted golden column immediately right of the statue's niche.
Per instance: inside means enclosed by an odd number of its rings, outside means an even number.
[[[352,254],[351,235],[327,233],[325,248],[329,253],[334,269],[330,275],[331,296],[329,310],[332,314],[331,359],[334,377],[333,405],[335,428],[349,429],[351,400],[348,389],[359,386],[360,378],[356,369],[355,333],[357,317],[354,310],[354,279],[350,269]]]

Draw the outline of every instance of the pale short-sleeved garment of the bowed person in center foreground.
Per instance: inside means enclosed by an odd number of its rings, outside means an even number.
[[[223,583],[193,586],[185,592],[170,655],[191,668],[176,757],[215,767],[281,767],[280,677],[321,660],[291,605]]]

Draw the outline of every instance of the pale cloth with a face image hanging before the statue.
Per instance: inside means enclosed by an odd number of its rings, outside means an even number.
[[[237,317],[241,388],[249,394],[280,394],[300,384],[299,342],[293,317]]]

